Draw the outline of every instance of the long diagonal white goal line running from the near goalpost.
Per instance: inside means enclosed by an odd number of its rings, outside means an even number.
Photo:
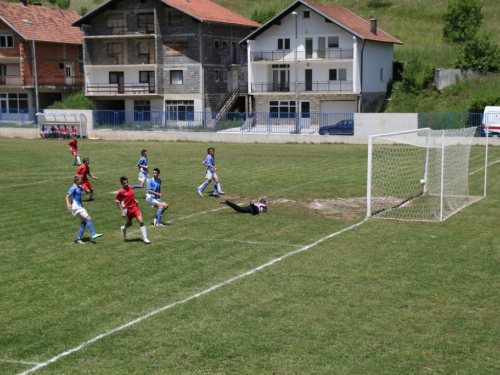
[[[314,246],[318,245],[319,243],[321,243],[321,242],[323,242],[323,241],[325,241],[325,240],[327,240],[327,239],[330,239],[330,238],[335,237],[335,236],[337,236],[337,235],[339,235],[339,234],[342,234],[342,233],[344,233],[344,232],[346,232],[346,231],[348,231],[348,230],[351,230],[351,229],[354,229],[354,228],[356,228],[356,227],[360,226],[361,224],[365,223],[367,220],[368,220],[368,218],[365,218],[364,220],[360,221],[359,223],[353,224],[353,225],[351,225],[351,226],[349,226],[349,227],[347,227],[347,228],[344,228],[344,229],[342,229],[342,230],[340,230],[340,231],[338,231],[338,232],[335,232],[335,233],[329,234],[329,235],[328,235],[328,236],[326,236],[326,237],[320,238],[320,239],[319,239],[319,240],[317,240],[316,242],[313,242],[313,243],[311,243],[311,244],[309,244],[309,245],[303,246],[303,247],[301,247],[300,249],[297,249],[297,250],[291,251],[291,252],[289,252],[289,253],[287,253],[287,254],[285,254],[285,255],[281,256],[281,257],[275,258],[275,259],[273,259],[273,260],[271,260],[271,261],[269,261],[269,262],[267,262],[267,263],[264,263],[264,264],[262,264],[262,265],[260,265],[260,266],[258,266],[258,267],[256,267],[256,268],[254,268],[254,269],[251,269],[250,271],[247,271],[247,272],[242,273],[242,274],[240,274],[240,275],[238,275],[238,276],[232,277],[232,278],[230,278],[230,279],[228,279],[228,280],[226,280],[226,281],[224,281],[224,282],[222,282],[222,283],[220,283],[220,284],[213,285],[213,286],[211,286],[210,288],[205,289],[205,290],[204,290],[204,291],[202,291],[202,292],[199,292],[199,293],[193,294],[192,296],[190,296],[190,297],[188,297],[188,298],[186,298],[186,299],[183,299],[183,300],[181,300],[181,301],[177,301],[177,302],[173,302],[173,303],[171,303],[171,304],[169,304],[169,305],[165,305],[165,306],[163,306],[163,307],[160,307],[159,309],[153,310],[153,311],[151,311],[150,313],[148,313],[148,314],[146,314],[146,315],[143,315],[143,316],[141,316],[141,317],[139,317],[139,318],[137,318],[137,319],[134,319],[134,320],[132,320],[132,321],[130,321],[130,322],[128,322],[128,323],[126,323],[126,324],[123,324],[123,325],[121,325],[121,326],[119,326],[119,327],[116,327],[116,328],[114,328],[114,329],[111,329],[111,330],[109,330],[109,331],[107,331],[107,332],[105,332],[105,333],[102,333],[102,334],[100,334],[100,335],[97,335],[97,336],[95,336],[94,338],[92,338],[92,339],[90,339],[90,340],[88,340],[88,341],[85,341],[84,343],[82,343],[82,344],[80,344],[80,345],[78,345],[78,346],[75,346],[74,348],[71,348],[71,349],[69,349],[69,350],[67,350],[67,351],[65,351],[65,352],[62,352],[62,353],[60,353],[60,354],[56,355],[55,357],[52,357],[52,358],[51,358],[51,359],[49,359],[48,361],[38,363],[36,366],[34,366],[34,367],[30,368],[29,370],[26,370],[26,371],[24,371],[24,372],[21,372],[21,373],[19,373],[18,375],[27,375],[27,374],[30,374],[30,373],[32,373],[32,372],[35,372],[35,371],[37,371],[37,370],[39,370],[39,369],[41,369],[41,368],[43,368],[43,367],[46,367],[46,366],[50,365],[51,363],[55,363],[55,362],[59,361],[61,358],[64,358],[64,357],[66,357],[66,356],[68,356],[68,355],[70,355],[70,354],[72,354],[72,353],[75,353],[75,352],[77,352],[77,351],[82,350],[82,349],[83,349],[83,348],[85,348],[86,346],[88,346],[88,345],[90,345],[90,344],[92,344],[92,343],[94,343],[94,342],[96,342],[96,341],[99,341],[99,340],[100,340],[100,339],[102,339],[102,338],[105,338],[105,337],[107,337],[107,336],[112,335],[112,334],[113,334],[113,333],[115,333],[115,332],[119,332],[119,331],[121,331],[121,330],[124,330],[125,328],[129,328],[129,327],[131,327],[131,326],[133,326],[133,325],[135,325],[135,324],[137,324],[137,323],[142,322],[142,321],[143,321],[143,320],[145,320],[145,319],[151,318],[152,316],[155,316],[155,315],[157,315],[157,314],[159,314],[159,313],[161,313],[161,312],[163,312],[163,311],[165,311],[165,310],[169,310],[169,309],[171,309],[171,308],[173,308],[173,307],[175,307],[175,306],[177,306],[177,305],[182,305],[182,304],[184,304],[184,303],[186,303],[186,302],[189,302],[189,301],[191,301],[191,300],[194,300],[195,298],[198,298],[198,297],[204,296],[205,294],[208,294],[208,293],[210,293],[210,292],[213,292],[214,290],[217,290],[217,289],[219,289],[220,287],[223,287],[223,286],[229,285],[229,284],[231,284],[231,283],[233,283],[233,282],[235,282],[235,281],[238,281],[238,280],[240,280],[240,279],[243,279],[243,278],[244,278],[244,277],[246,277],[246,276],[252,275],[252,274],[254,274],[254,273],[258,272],[258,271],[261,271],[261,270],[263,270],[263,269],[265,269],[265,268],[267,268],[267,267],[270,267],[270,266],[274,265],[275,263],[280,262],[280,261],[282,261],[282,260],[284,260],[284,259],[286,259],[286,258],[288,258],[288,257],[290,257],[290,256],[292,256],[292,255],[295,255],[295,254],[298,254],[298,253],[300,253],[300,252],[303,252],[303,251],[309,250],[310,248],[312,248],[312,247],[314,247]]]

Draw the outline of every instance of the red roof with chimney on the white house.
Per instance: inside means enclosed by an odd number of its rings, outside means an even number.
[[[394,44],[403,44],[400,40],[387,34],[385,31],[377,27],[377,34],[371,32],[371,24],[363,18],[357,16],[351,11],[332,5],[317,4],[307,0],[302,0],[303,3],[316,9],[319,13],[337,21],[341,26],[350,30],[353,34],[357,34],[362,39],[374,40],[377,42],[386,42]]]

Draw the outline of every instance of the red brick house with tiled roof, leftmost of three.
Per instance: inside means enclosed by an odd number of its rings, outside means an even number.
[[[43,109],[83,89],[82,35],[70,10],[0,2],[0,115]],[[33,120],[34,111],[29,117]]]

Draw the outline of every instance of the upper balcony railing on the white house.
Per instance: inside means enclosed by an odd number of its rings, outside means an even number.
[[[352,60],[352,49],[329,48],[297,51],[297,60]],[[294,50],[252,52],[252,61],[295,61]]]

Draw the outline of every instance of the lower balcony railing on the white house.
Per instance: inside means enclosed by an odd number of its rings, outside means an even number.
[[[349,92],[352,93],[352,81],[307,81],[298,82],[297,90],[300,92]],[[295,92],[295,82],[254,82],[252,93],[256,92]]]

